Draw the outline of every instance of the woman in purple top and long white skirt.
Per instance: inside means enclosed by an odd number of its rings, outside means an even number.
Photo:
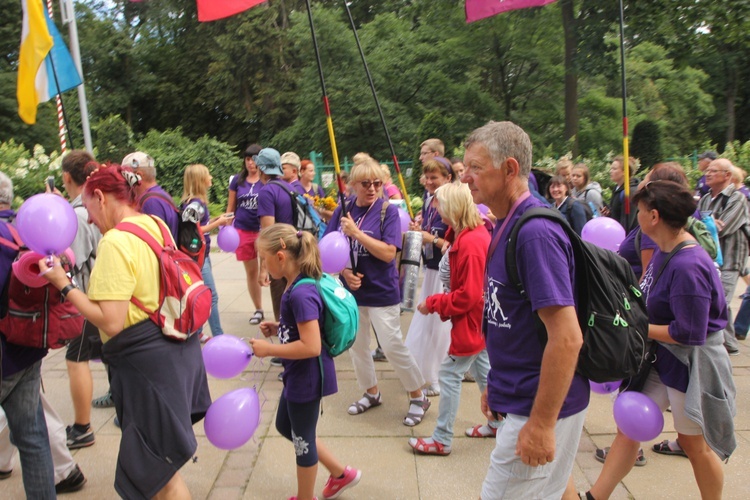
[[[438,213],[435,191],[440,186],[453,181],[453,169],[448,160],[436,156],[434,159],[424,162],[422,174],[425,178],[424,187],[427,190],[427,198],[422,206],[421,223],[415,222],[411,225],[412,231],[422,233],[424,279],[422,290],[419,292],[418,303],[424,302],[431,295],[443,292],[438,268],[440,267],[440,259],[443,257],[442,249],[446,243],[445,232],[448,225],[443,222]],[[415,311],[404,343],[414,359],[417,360],[417,366],[419,366],[426,380],[425,395],[439,396],[440,365],[448,355],[448,348],[451,343],[450,320],[443,322],[440,320],[439,314],[423,314],[420,311]]]

